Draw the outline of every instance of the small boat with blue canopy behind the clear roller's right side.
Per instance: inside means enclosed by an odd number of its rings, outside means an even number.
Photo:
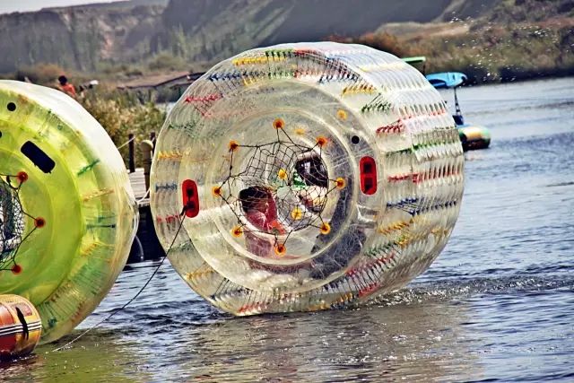
[[[408,64],[420,64],[426,61],[425,57],[403,58]],[[424,74],[424,66],[422,74]],[[485,126],[478,126],[465,122],[465,118],[458,103],[457,87],[465,83],[468,78],[460,72],[443,72],[439,74],[425,74],[426,79],[436,89],[450,89],[455,93],[455,114],[452,116],[457,124],[458,135],[463,144],[463,150],[486,149],[491,144],[491,132]]]

